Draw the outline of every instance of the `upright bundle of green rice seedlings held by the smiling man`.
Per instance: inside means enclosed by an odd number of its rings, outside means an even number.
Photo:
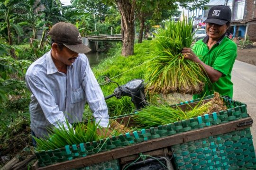
[[[197,63],[184,59],[181,53],[183,47],[192,45],[192,20],[168,21],[155,36],[145,75],[146,91],[201,93],[207,78]]]

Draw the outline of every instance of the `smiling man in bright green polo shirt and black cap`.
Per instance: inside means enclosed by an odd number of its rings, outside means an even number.
[[[206,22],[207,36],[196,42],[192,49],[183,48],[184,58],[190,59],[201,66],[209,84],[204,91],[193,95],[193,99],[218,92],[220,95],[233,97],[231,71],[237,57],[237,45],[226,36],[231,20],[228,6],[210,8]]]

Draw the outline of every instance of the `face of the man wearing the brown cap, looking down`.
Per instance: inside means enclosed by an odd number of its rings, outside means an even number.
[[[75,59],[78,57],[78,53],[71,51],[64,46],[62,50],[58,48],[57,59],[65,65],[72,65]]]

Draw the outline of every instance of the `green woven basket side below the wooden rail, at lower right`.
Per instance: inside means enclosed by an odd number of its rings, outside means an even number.
[[[178,170],[253,170],[250,128],[172,146]]]

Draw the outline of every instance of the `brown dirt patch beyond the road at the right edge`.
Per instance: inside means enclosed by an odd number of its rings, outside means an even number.
[[[238,48],[237,60],[256,66],[256,47],[249,49]]]

